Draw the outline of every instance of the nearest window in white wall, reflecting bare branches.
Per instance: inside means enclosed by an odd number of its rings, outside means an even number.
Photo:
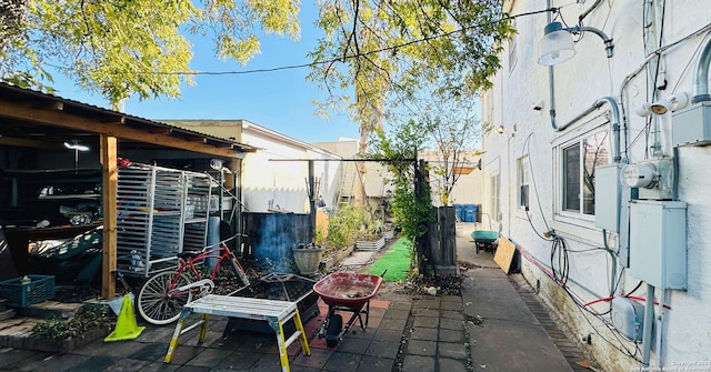
[[[595,211],[595,168],[610,161],[607,131],[589,134],[561,147],[562,210],[593,215]]]

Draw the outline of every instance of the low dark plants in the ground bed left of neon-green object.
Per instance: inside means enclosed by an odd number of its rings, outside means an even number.
[[[67,340],[91,330],[112,326],[116,320],[110,316],[107,308],[81,308],[69,319],[53,318],[38,322],[30,330],[30,335],[36,339]]]

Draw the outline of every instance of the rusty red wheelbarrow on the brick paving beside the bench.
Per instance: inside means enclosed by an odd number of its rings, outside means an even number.
[[[368,328],[370,299],[378,293],[384,274],[383,272],[378,277],[334,272],[313,284],[313,292],[329,305],[329,312],[319,329],[319,339],[326,338],[326,344],[329,348],[336,346],[343,340],[343,335],[348,333],[356,319],[358,319],[361,329]],[[343,316],[337,311],[352,312],[346,325],[343,325]],[[365,322],[363,322],[362,315],[365,315]]]

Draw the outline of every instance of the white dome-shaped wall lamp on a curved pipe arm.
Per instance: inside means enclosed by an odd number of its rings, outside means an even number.
[[[572,34],[585,31],[590,31],[602,38],[608,58],[611,58],[614,44],[612,43],[612,39],[601,30],[587,26],[563,28],[561,22],[551,22],[545,26],[543,39],[541,39],[539,43],[538,63],[542,66],[553,66],[571,59],[575,56],[575,44]]]

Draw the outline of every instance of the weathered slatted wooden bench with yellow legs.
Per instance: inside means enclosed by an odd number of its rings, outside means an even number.
[[[191,313],[202,314],[202,320],[184,328],[186,321]],[[211,314],[267,321],[277,333],[282,372],[289,371],[287,348],[297,339],[301,342],[303,352],[307,355],[311,354],[309,341],[307,340],[296,302],[208,294],[183,306],[178,324],[176,325],[176,331],[173,332],[173,338],[170,340],[170,345],[166,353],[166,363],[170,363],[172,360],[173,352],[178,346],[178,339],[181,334],[201,325],[199,342],[204,341],[208,321]],[[291,319],[293,319],[297,330],[292,335],[286,338],[283,324]]]

